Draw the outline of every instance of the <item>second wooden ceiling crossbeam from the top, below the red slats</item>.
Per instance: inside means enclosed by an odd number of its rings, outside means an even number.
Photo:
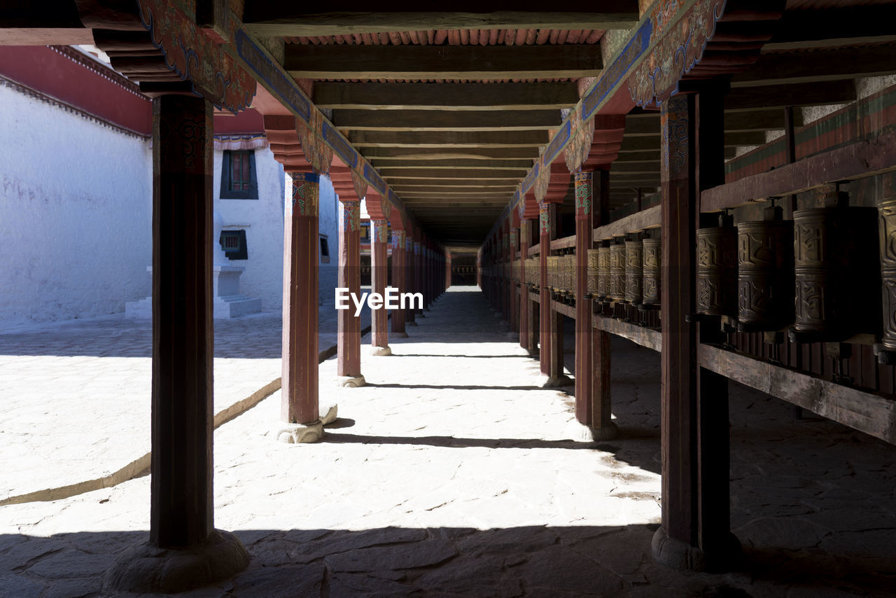
[[[599,44],[287,44],[284,56],[284,68],[297,79],[577,79],[603,68]]]

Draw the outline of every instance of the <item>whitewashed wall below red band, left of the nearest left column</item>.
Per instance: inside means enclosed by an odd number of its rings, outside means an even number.
[[[0,85],[0,165],[0,328],[149,294],[148,140]]]

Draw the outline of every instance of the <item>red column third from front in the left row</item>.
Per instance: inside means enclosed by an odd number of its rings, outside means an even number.
[[[339,276],[340,287],[349,295],[360,296],[361,290],[361,222],[360,202],[340,197]],[[361,318],[355,316],[354,304],[337,311],[338,343],[336,375],[343,377],[343,386],[364,386],[361,376]]]

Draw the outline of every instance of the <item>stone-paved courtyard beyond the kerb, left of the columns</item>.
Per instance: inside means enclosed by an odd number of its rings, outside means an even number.
[[[321,308],[319,327],[320,350],[334,347],[335,310]],[[280,377],[280,339],[279,312],[215,320],[215,413]],[[149,320],[121,314],[0,331],[0,501],[149,452],[151,342]]]

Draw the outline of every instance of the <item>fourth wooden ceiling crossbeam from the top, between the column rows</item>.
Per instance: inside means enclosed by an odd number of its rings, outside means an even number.
[[[333,110],[332,123],[352,131],[547,131],[560,110]]]

